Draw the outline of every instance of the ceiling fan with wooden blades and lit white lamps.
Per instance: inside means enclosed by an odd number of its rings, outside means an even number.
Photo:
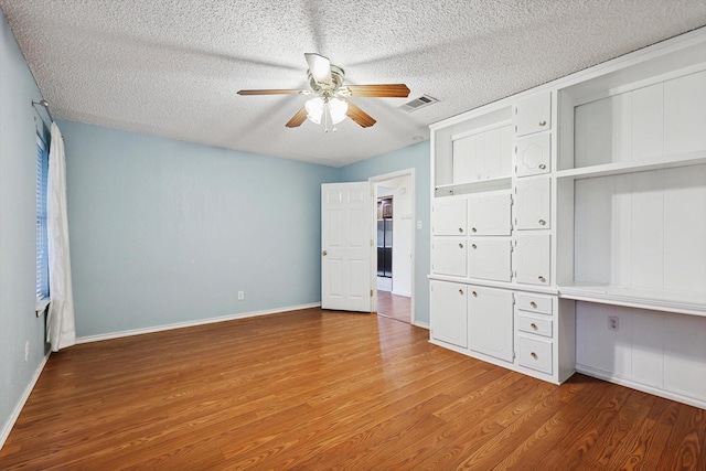
[[[239,90],[238,95],[315,95],[285,126],[296,128],[301,126],[307,118],[319,125],[323,119],[327,132],[329,131],[329,119],[335,126],[347,116],[363,128],[368,128],[376,122],[371,115],[347,99],[349,97],[405,98],[409,95],[409,88],[405,84],[344,86],[345,73],[343,68],[332,65],[327,57],[320,54],[307,53],[304,57],[309,65],[307,74],[311,89]],[[333,130],[335,131],[335,127]]]

